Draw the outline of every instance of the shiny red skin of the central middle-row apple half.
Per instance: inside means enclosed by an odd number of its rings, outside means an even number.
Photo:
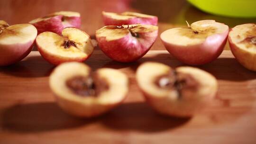
[[[158,30],[155,30],[151,33],[140,34],[140,37],[145,38],[145,45],[148,45],[155,42],[157,33]],[[113,41],[107,41],[106,37],[96,36],[96,39],[104,54],[122,63],[137,61],[145,55],[154,44],[152,43],[150,46],[145,46],[144,44],[138,43],[137,40],[131,39],[129,35]]]

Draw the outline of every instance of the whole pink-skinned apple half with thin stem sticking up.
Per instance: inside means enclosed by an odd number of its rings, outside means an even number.
[[[183,63],[201,65],[217,59],[227,42],[229,27],[215,20],[201,20],[188,27],[161,34],[166,50]]]

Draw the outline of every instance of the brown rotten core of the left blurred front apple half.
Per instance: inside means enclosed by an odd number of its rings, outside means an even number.
[[[75,94],[82,97],[97,97],[102,91],[109,89],[108,82],[97,74],[88,77],[74,76],[66,81],[66,85]]]

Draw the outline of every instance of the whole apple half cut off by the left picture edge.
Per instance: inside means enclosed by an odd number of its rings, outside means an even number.
[[[31,24],[11,25],[0,20],[0,66],[22,60],[32,50],[37,29]]]

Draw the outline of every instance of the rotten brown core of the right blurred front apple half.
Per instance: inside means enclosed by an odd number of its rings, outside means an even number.
[[[190,74],[176,72],[175,70],[158,76],[155,79],[155,84],[163,89],[177,90],[179,98],[182,97],[183,91],[196,91],[199,86],[199,83]]]

